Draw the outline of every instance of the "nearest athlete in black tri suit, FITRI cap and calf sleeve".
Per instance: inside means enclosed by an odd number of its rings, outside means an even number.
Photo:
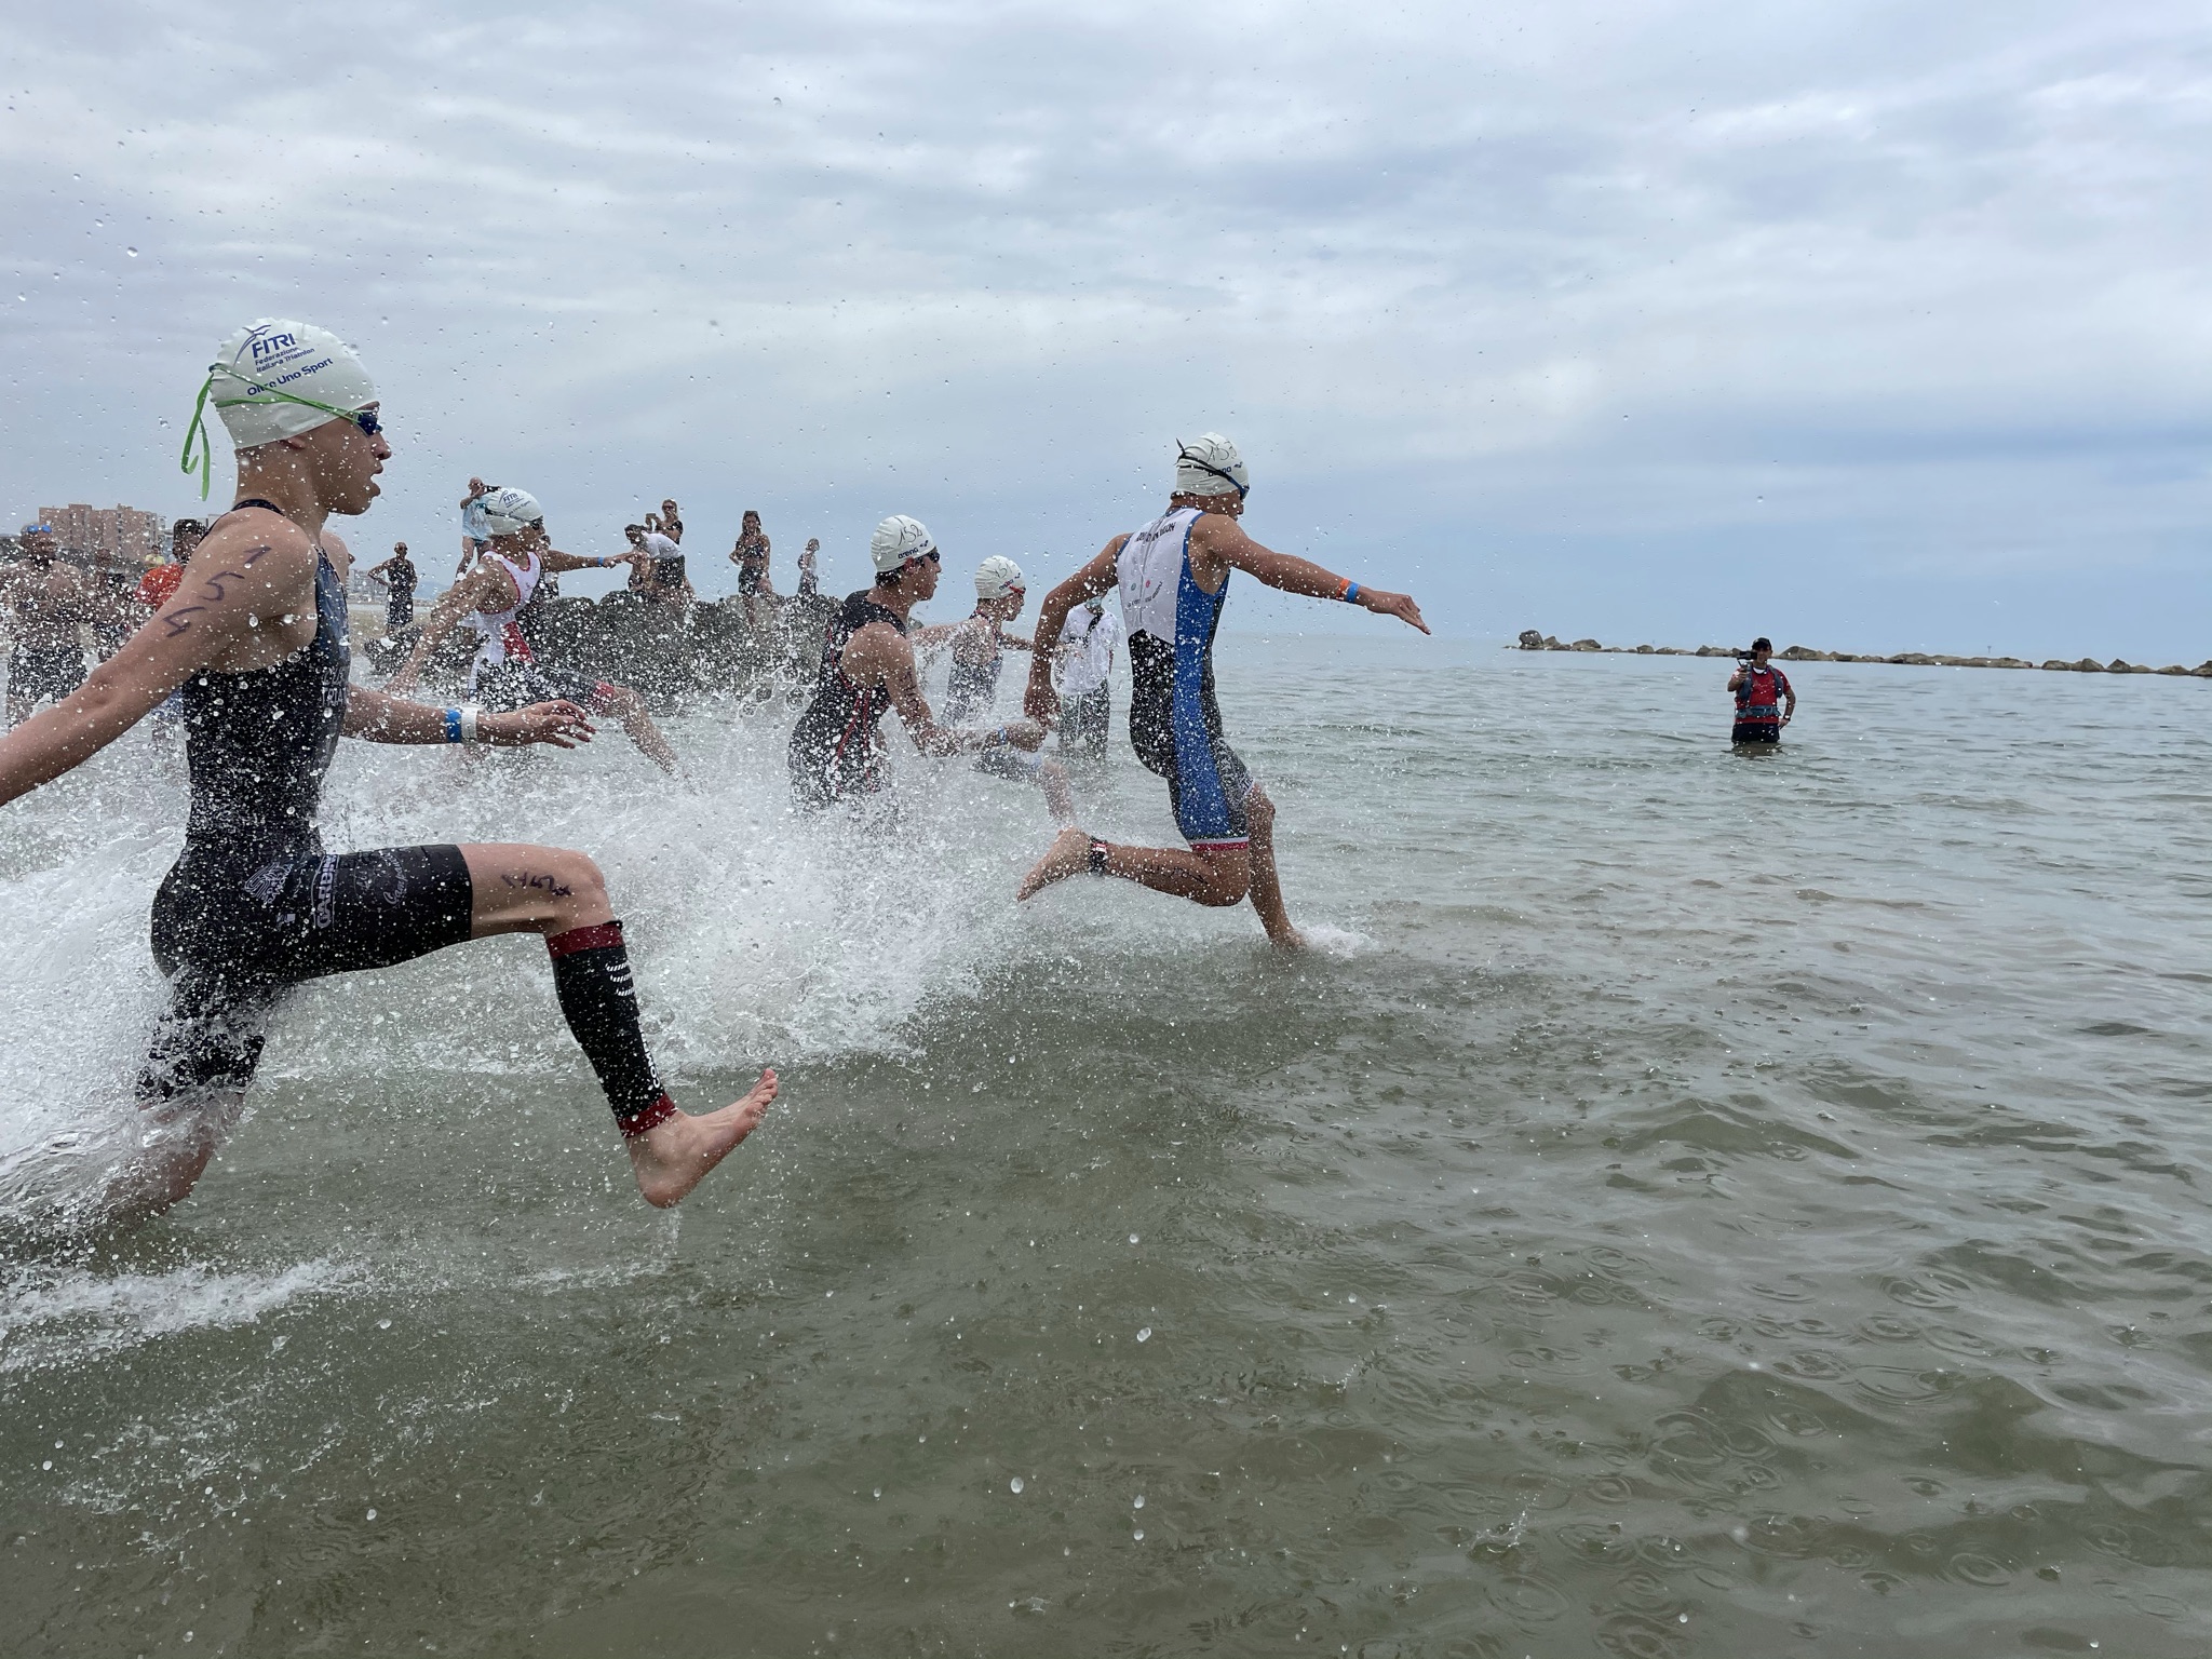
[[[274,387],[283,387],[281,392]],[[184,690],[192,805],[153,905],[170,978],[139,1104],[177,1130],[108,1194],[124,1217],[192,1190],[261,1060],[270,1009],[299,982],[392,967],[471,938],[540,933],[562,1013],[606,1091],[648,1203],[684,1199],[761,1121],[776,1075],[714,1113],[681,1113],[646,1055],[622,922],[599,867],[520,843],[327,854],[314,825],[341,737],[372,743],[591,739],[575,703],[509,714],[425,708],[347,681],[345,544],[332,515],[376,498],[392,456],[376,387],[334,334],[239,330],[201,389],[239,449],[234,507],[184,584],[82,690],[0,739],[0,805],[97,754]],[[186,436],[206,436],[195,414]],[[471,1013],[471,1018],[484,1018]]]

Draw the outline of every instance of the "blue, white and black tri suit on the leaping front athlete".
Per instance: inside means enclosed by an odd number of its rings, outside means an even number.
[[[1190,577],[1197,507],[1177,507],[1121,542],[1121,622],[1128,626],[1128,741],[1168,779],[1175,825],[1192,847],[1243,847],[1252,838],[1252,774],[1221,734],[1214,703],[1214,628],[1228,599]]]

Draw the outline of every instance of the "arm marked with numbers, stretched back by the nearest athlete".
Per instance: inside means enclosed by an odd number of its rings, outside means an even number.
[[[0,803],[88,761],[192,672],[219,664],[263,624],[279,626],[312,584],[314,546],[296,526],[217,524],[192,549],[170,602],[122,650],[60,703],[0,739]]]

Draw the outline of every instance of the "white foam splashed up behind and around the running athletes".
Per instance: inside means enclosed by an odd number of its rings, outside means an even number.
[[[1051,841],[1035,790],[925,761],[891,732],[902,816],[863,834],[792,807],[790,710],[670,723],[688,779],[622,737],[573,754],[462,754],[343,743],[323,799],[332,849],[507,841],[577,847],[608,878],[648,1037],[672,1082],[914,1046],[916,1022],[1024,960],[1188,953],[1230,920],[1119,885],[1068,883],[1015,905]],[[1144,774],[1135,796],[1164,818]],[[1097,807],[1115,834],[1115,792]],[[1084,785],[1091,787],[1091,785]],[[139,1146],[131,1084],[164,987],[148,951],[155,887],[181,845],[184,776],[142,728],[0,814],[0,1219],[66,1208]],[[1119,810],[1128,816],[1128,803]],[[1126,827],[1126,825],[1124,825]],[[1144,821],[1157,838],[1164,823]],[[445,951],[303,987],[274,1018],[263,1077],[586,1075],[533,938]],[[681,1091],[679,1091],[681,1093]]]

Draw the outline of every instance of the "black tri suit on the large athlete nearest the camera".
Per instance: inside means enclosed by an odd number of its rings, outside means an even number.
[[[239,507],[268,507],[246,500]],[[237,511],[237,509],[232,509]],[[316,549],[314,639],[268,668],[184,681],[192,807],[153,900],[170,978],[139,1099],[243,1088],[268,1011],[301,980],[392,967],[469,938],[460,847],[327,854],[314,825],[345,723],[345,584]]]

